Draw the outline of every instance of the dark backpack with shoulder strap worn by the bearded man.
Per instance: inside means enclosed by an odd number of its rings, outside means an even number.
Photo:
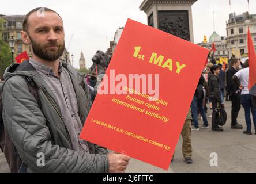
[[[28,76],[23,76],[25,81],[28,84],[28,88],[30,93],[33,94],[33,96],[36,98],[36,101],[39,105],[39,108],[41,108],[41,102],[38,94],[38,88],[33,82],[31,78]],[[6,81],[5,81],[6,82]],[[12,139],[10,139],[10,136],[8,135],[5,125],[3,124],[3,118],[2,118],[2,112],[3,112],[3,103],[2,103],[2,91],[3,91],[4,83],[1,89],[1,95],[0,95],[0,148],[5,154],[5,158],[7,160],[7,163],[9,164],[10,171],[12,173],[24,173],[27,171],[27,166],[24,162],[22,162],[20,155],[18,155],[18,151],[16,150]]]

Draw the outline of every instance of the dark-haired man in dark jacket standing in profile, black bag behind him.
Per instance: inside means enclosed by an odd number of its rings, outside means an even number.
[[[220,97],[220,85],[219,79],[217,75],[220,73],[220,68],[217,65],[213,65],[210,68],[210,72],[213,75],[210,75],[209,78],[209,91],[210,91],[210,100],[212,101],[212,131],[223,131],[221,127],[217,124],[217,114],[215,109],[218,105],[221,104],[221,97]]]

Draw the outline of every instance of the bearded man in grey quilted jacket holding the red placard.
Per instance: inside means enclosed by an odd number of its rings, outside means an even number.
[[[91,97],[85,79],[59,60],[65,49],[59,14],[31,10],[21,36],[31,45],[32,58],[7,68],[2,98],[3,122],[21,166],[27,172],[124,172],[129,156],[108,154],[79,138]],[[39,99],[26,80],[36,86]]]

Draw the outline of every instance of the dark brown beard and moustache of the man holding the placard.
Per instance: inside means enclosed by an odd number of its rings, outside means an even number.
[[[31,38],[31,37],[30,37]],[[65,49],[65,41],[63,43],[58,44],[57,41],[49,41],[47,44],[41,45],[36,43],[35,41],[31,40],[31,47],[33,53],[40,57],[41,59],[47,60],[49,62],[54,62],[55,60],[59,59],[62,56],[64,49]],[[47,47],[56,46],[58,49],[54,50],[47,50]]]

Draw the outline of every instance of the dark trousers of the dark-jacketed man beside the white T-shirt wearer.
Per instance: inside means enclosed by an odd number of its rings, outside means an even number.
[[[232,102],[232,107],[231,107],[231,126],[232,126],[232,125],[238,124],[237,118],[238,118],[239,110],[241,108],[240,94],[232,93],[230,95],[230,98]]]

